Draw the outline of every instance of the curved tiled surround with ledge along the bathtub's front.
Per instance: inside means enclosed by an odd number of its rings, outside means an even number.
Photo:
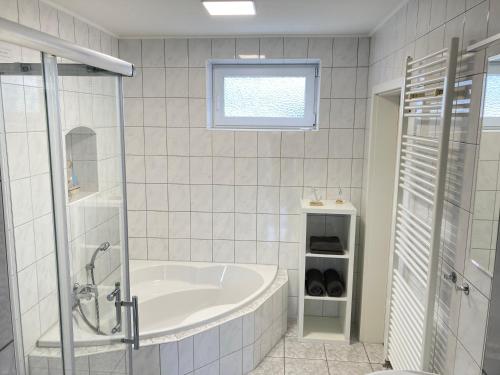
[[[248,374],[285,334],[287,300],[288,276],[279,270],[268,290],[235,313],[175,335],[141,340],[139,351],[132,352],[134,373]],[[29,357],[30,374],[57,369],[57,353],[58,349],[36,349]],[[121,345],[77,348],[76,355],[80,375],[125,373]]]

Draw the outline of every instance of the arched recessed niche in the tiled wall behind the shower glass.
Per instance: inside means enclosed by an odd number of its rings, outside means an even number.
[[[96,133],[85,126],[66,134],[66,183],[69,202],[99,190]]]

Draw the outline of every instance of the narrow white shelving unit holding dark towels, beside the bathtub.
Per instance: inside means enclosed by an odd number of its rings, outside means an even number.
[[[298,334],[301,340],[350,342],[356,208],[348,201],[340,204],[332,200],[322,202],[323,206],[311,206],[309,200],[302,200]],[[311,253],[311,235],[338,236],[345,247],[344,253]],[[305,277],[309,268],[335,269],[344,280],[344,295],[307,295]]]

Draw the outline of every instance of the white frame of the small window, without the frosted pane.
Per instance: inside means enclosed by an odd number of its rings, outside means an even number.
[[[321,65],[319,59],[210,59],[206,67],[207,128],[212,130],[319,129]],[[269,76],[306,78],[305,116],[226,117],[224,116],[224,78],[230,76]]]

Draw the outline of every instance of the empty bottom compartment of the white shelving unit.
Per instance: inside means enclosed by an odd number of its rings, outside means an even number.
[[[346,341],[344,318],[304,316],[304,334],[307,340]]]

